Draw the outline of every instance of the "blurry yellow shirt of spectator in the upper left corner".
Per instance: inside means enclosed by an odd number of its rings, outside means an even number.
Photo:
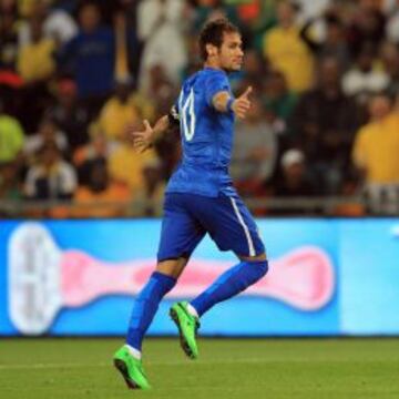
[[[55,70],[51,39],[41,39],[22,47],[18,57],[18,72],[25,82],[34,82],[50,76]]]

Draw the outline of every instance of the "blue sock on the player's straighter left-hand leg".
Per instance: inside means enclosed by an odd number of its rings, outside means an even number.
[[[126,344],[141,350],[145,331],[149,329],[162,298],[175,286],[176,279],[154,272],[137,296],[129,325]]]

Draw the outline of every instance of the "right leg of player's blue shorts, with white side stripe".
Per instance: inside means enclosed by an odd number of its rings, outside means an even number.
[[[265,246],[250,212],[236,195],[214,198],[205,213],[206,229],[222,250],[233,250],[241,258],[264,257]]]

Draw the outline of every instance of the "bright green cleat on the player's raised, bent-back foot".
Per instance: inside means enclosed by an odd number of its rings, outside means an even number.
[[[170,316],[178,328],[182,349],[191,359],[196,359],[198,348],[195,339],[200,319],[188,313],[186,301],[174,304],[171,307]]]

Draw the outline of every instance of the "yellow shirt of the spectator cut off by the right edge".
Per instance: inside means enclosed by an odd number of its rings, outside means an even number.
[[[391,113],[369,123],[357,133],[352,152],[355,165],[366,171],[368,183],[399,183],[399,115]]]

